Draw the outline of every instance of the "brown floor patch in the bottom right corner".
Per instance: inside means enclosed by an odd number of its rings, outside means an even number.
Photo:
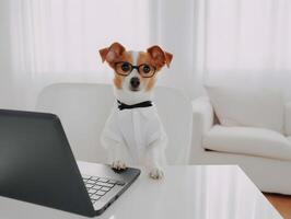
[[[284,219],[291,219],[291,196],[264,194]]]

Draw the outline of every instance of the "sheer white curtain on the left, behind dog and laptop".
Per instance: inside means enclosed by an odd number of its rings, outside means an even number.
[[[149,45],[147,1],[0,0],[0,105],[32,110],[56,82],[110,82],[98,49]],[[5,95],[8,93],[8,95]]]

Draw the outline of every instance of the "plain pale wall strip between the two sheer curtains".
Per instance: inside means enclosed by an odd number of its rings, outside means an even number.
[[[152,1],[152,43],[170,49],[174,58],[165,69],[160,84],[177,88],[193,95],[194,84],[194,1]]]

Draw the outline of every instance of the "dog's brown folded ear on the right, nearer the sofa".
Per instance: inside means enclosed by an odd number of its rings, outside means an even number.
[[[162,68],[164,65],[166,65],[167,68],[170,67],[170,64],[173,59],[172,54],[164,51],[160,46],[156,45],[148,48],[147,51],[150,54],[151,58],[159,68]]]

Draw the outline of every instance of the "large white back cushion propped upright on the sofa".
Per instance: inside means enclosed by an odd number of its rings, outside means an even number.
[[[283,96],[279,90],[206,85],[223,126],[245,126],[283,132]]]

